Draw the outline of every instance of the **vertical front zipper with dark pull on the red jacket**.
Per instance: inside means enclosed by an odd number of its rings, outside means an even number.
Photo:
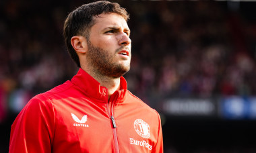
[[[111,107],[110,107],[110,111],[108,109],[108,104],[107,104],[107,110],[108,110],[108,115],[110,116],[110,120],[112,122],[113,125],[113,135],[114,135],[114,142],[115,142],[115,152],[119,153],[119,144],[118,144],[118,140],[117,140],[117,124],[115,122],[115,118],[114,118],[114,113],[113,113],[113,107],[114,107],[114,103],[112,101],[111,103]]]

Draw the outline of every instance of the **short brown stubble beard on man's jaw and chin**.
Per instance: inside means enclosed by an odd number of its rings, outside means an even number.
[[[115,50],[115,53],[119,52],[119,50],[121,48]],[[117,79],[130,70],[130,62],[123,65],[114,62],[114,58],[115,54],[109,54],[107,50],[95,47],[88,41],[88,65],[98,77]]]

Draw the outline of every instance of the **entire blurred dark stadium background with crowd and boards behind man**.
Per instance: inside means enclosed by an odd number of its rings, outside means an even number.
[[[256,2],[116,1],[131,15],[129,90],[160,112],[164,152],[256,152]],[[77,72],[68,12],[87,1],[0,1],[0,152],[28,100]]]

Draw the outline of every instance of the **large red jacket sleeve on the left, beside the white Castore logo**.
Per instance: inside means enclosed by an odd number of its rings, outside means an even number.
[[[37,95],[11,125],[9,152],[51,152],[55,115],[51,101]]]

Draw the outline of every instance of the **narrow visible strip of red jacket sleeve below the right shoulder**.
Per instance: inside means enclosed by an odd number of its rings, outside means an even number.
[[[156,146],[152,149],[152,152],[154,153],[162,153],[164,152],[164,144],[163,144],[163,138],[162,138],[162,124],[160,115],[158,114],[158,142]]]

